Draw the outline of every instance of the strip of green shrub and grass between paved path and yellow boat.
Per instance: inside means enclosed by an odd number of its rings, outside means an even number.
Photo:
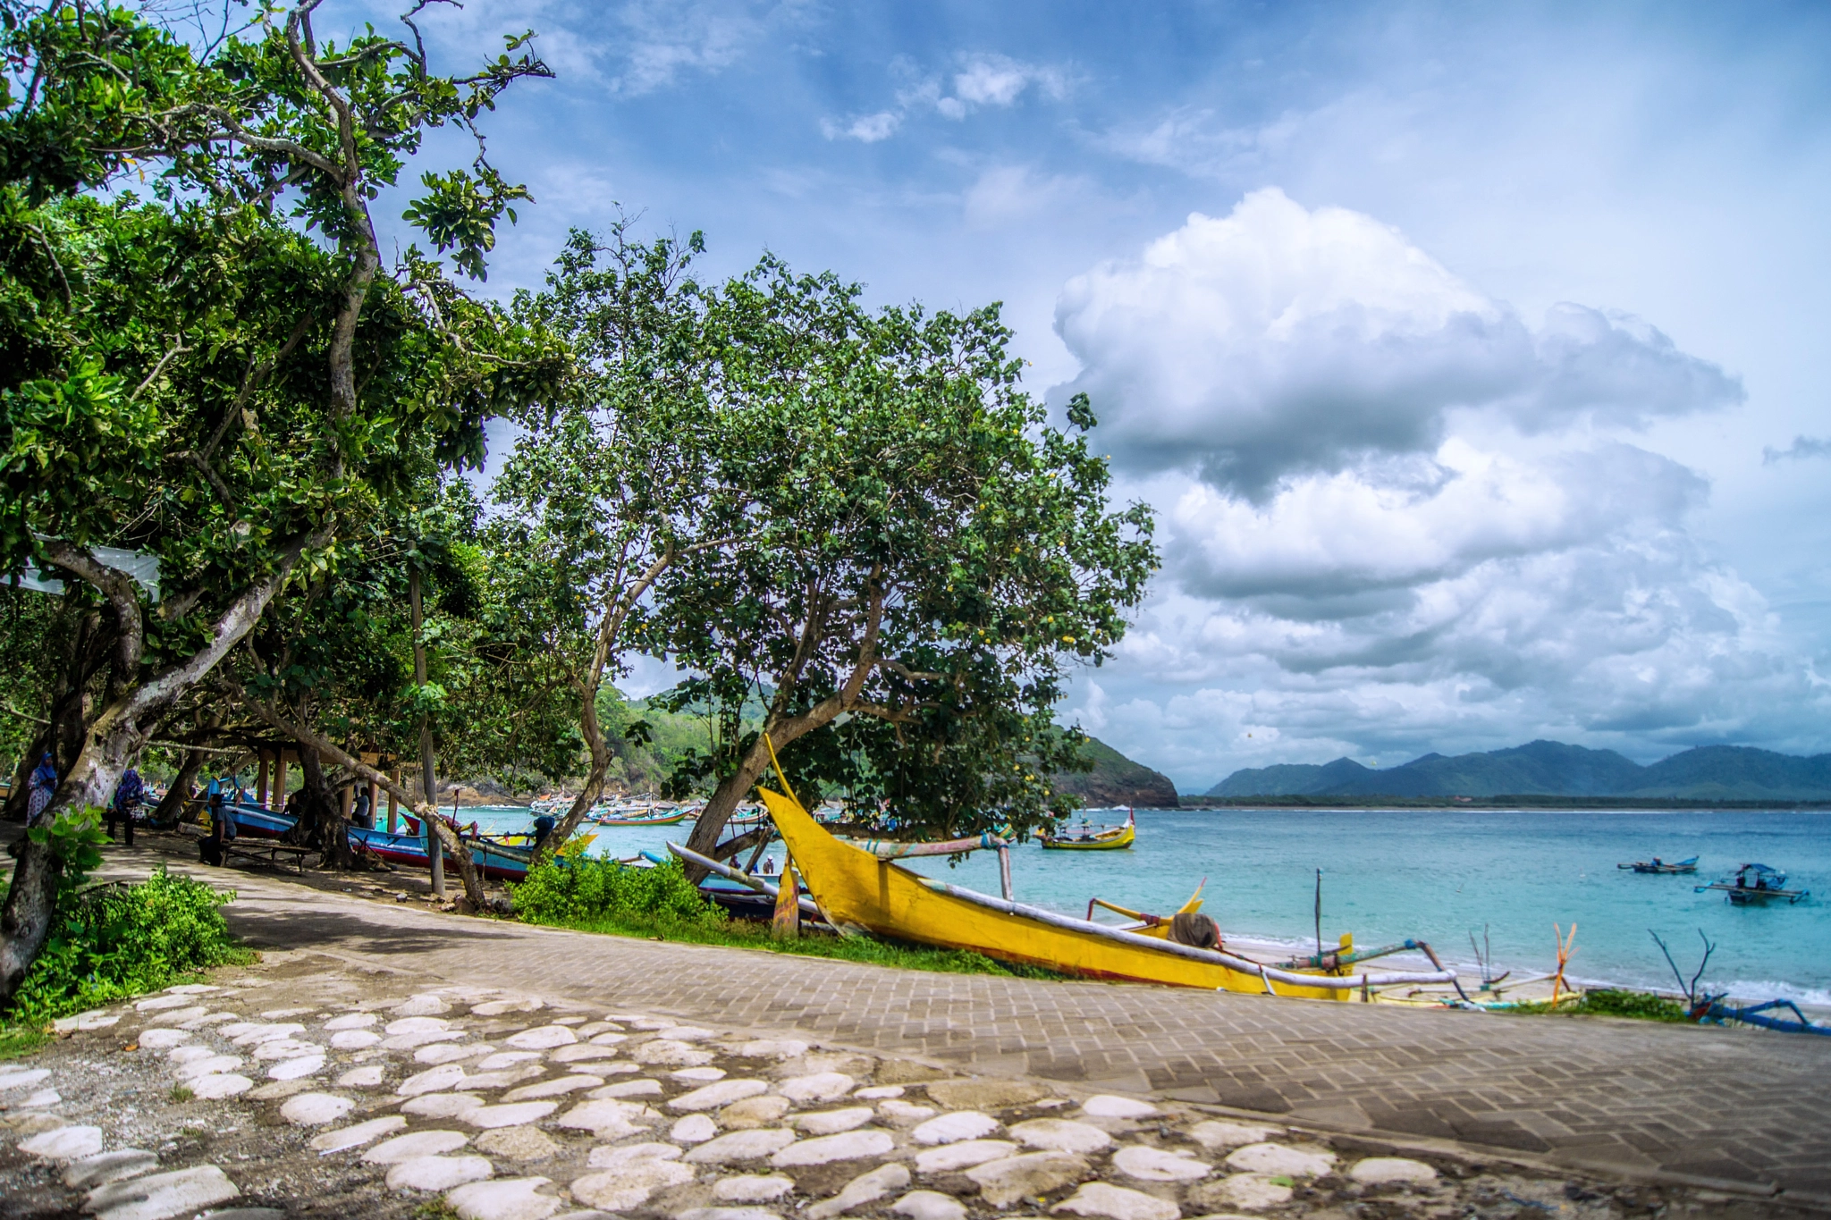
[[[723,907],[699,894],[677,860],[654,869],[628,869],[613,860],[575,856],[564,867],[536,867],[524,883],[513,887],[513,894],[516,916],[525,924],[546,927],[764,949],[767,953],[952,975],[1064,977],[1038,966],[1000,962],[970,949],[937,949],[829,933],[802,933],[795,940],[776,940],[767,926],[732,920]]]

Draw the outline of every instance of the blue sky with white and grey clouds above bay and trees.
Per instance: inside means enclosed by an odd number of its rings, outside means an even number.
[[[536,201],[489,291],[623,209],[703,230],[710,274],[773,251],[873,304],[1003,302],[1029,390],[1091,395],[1165,554],[1064,719],[1181,790],[1538,737],[1831,750],[1831,9],[423,26],[445,70],[533,27],[558,73],[487,121]]]

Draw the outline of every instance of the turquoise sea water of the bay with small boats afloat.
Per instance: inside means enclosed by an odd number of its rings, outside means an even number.
[[[527,810],[465,810],[494,829],[525,829]],[[1095,821],[1122,812],[1095,810]],[[1139,810],[1122,852],[1014,849],[1020,902],[1086,915],[1088,898],[1168,913],[1207,878],[1203,911],[1227,936],[1313,944],[1315,871],[1322,935],[1360,946],[1406,936],[1474,969],[1468,933],[1489,927],[1498,969],[1555,966],[1553,924],[1576,924],[1571,977],[1672,986],[1648,929],[1672,946],[1686,977],[1716,942],[1705,982],[1739,997],[1831,1004],[1831,814],[1826,812],[1540,812],[1540,810]],[[591,854],[665,852],[688,825],[601,827]],[[1699,856],[1690,876],[1641,876],[1617,861]],[[780,845],[775,847],[780,863]],[[1732,907],[1692,891],[1745,861],[1789,874],[1813,896],[1798,905]],[[998,863],[978,852],[956,869],[906,861],[928,876],[998,893]],[[1399,958],[1403,960],[1403,958]]]

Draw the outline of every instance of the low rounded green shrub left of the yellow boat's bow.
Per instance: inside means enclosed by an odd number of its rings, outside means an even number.
[[[661,931],[725,924],[725,909],[699,894],[677,860],[632,869],[615,860],[564,856],[529,871],[509,891],[529,924],[615,924]]]

